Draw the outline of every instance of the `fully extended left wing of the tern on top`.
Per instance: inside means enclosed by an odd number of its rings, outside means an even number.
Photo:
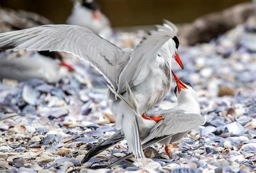
[[[118,76],[126,62],[122,49],[100,38],[85,27],[43,25],[0,34],[0,49],[14,51],[63,51],[86,60],[117,89]],[[123,64],[125,63],[125,64]]]

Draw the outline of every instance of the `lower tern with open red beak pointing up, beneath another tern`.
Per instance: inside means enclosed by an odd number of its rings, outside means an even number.
[[[169,143],[180,140],[191,131],[191,129],[205,124],[205,119],[201,115],[196,92],[192,88],[192,85],[187,82],[181,82],[174,73],[173,76],[177,83],[174,92],[177,96],[178,105],[173,109],[147,114],[147,116],[160,114],[160,116],[163,117],[163,120],[157,122],[157,124],[152,127],[147,138],[142,141],[143,149],[146,149],[157,142],[164,145],[165,152],[170,158],[171,155],[168,149]],[[107,168],[110,168],[131,156],[131,153],[126,154],[107,166]]]

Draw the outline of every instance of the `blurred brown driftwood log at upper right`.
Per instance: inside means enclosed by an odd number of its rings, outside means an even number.
[[[208,42],[231,28],[245,23],[253,15],[256,15],[253,3],[241,3],[221,12],[210,13],[193,23],[180,25],[179,40],[182,45],[187,46]]]

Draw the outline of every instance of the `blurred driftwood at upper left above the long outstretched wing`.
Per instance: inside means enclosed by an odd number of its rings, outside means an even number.
[[[51,24],[51,21],[36,13],[23,10],[14,11],[0,6],[0,33],[46,24]]]

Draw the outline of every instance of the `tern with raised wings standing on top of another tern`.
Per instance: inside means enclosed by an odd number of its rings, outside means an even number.
[[[114,91],[127,98],[129,84],[137,100],[137,111],[143,114],[164,99],[171,86],[171,58],[181,68],[178,56],[177,27],[165,20],[157,25],[132,49],[121,49],[100,38],[88,28],[73,25],[43,25],[26,30],[0,34],[0,49],[14,51],[63,51],[78,56],[95,67]],[[144,157],[140,144],[139,130],[155,123],[134,112],[109,91],[111,110],[116,125],[136,157]],[[139,128],[138,128],[139,123]]]

